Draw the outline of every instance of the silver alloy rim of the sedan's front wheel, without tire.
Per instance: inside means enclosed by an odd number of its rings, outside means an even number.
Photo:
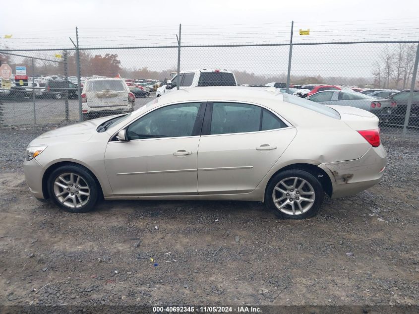
[[[54,181],[54,194],[64,206],[79,208],[89,201],[90,188],[80,175],[63,173]]]

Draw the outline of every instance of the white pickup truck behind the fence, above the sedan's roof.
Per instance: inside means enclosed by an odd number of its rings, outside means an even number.
[[[234,73],[229,70],[200,69],[182,71],[179,73],[179,89],[199,86],[237,86]],[[172,90],[177,90],[178,75],[175,74],[171,80],[159,87],[156,97],[160,97]]]

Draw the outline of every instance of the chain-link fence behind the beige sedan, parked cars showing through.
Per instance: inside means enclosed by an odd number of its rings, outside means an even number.
[[[358,107],[378,116],[384,132],[419,133],[417,41],[48,51],[55,60],[44,53],[0,51],[2,63],[28,72],[27,81],[2,84],[2,125],[88,120],[178,88],[238,84]]]

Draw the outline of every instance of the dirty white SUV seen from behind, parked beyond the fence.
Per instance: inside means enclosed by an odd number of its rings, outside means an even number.
[[[82,94],[83,119],[132,112],[135,95],[121,78],[93,78],[86,80]]]

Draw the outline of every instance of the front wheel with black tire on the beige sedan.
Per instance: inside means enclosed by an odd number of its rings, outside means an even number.
[[[47,188],[52,201],[70,213],[92,210],[102,195],[92,173],[81,165],[65,165],[54,170],[48,178]],[[67,192],[67,189],[70,190]]]

